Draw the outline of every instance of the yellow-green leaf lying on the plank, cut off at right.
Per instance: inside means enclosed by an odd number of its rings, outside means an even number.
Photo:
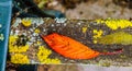
[[[132,44],[132,35],[125,32],[117,32],[98,38],[97,43],[106,45],[110,44],[130,45]]]

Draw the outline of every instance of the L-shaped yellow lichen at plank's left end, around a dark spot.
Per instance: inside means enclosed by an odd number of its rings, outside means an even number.
[[[18,46],[18,36],[10,35],[9,37],[9,52],[25,52],[29,49],[29,45]]]

